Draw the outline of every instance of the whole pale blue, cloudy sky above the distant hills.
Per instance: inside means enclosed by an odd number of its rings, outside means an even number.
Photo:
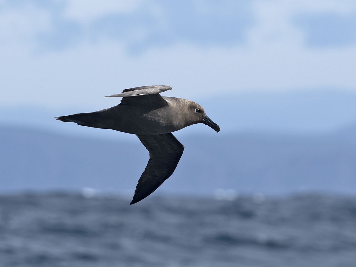
[[[0,0],[2,108],[94,111],[153,84],[356,93],[355,59],[353,0]]]

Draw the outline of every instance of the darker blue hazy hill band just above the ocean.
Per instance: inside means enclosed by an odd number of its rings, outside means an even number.
[[[79,127],[79,126],[78,126]],[[356,192],[356,138],[348,128],[334,135],[236,133],[176,136],[185,150],[176,171],[157,193],[284,194],[317,190]],[[355,131],[356,133],[356,131]],[[67,137],[0,127],[0,192],[78,190],[131,192],[148,152],[129,142]]]

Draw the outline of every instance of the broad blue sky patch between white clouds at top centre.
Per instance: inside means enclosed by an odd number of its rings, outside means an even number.
[[[246,40],[251,11],[247,1],[156,1],[130,14],[101,16],[86,27],[91,40],[117,40],[132,53],[176,42],[234,46]]]

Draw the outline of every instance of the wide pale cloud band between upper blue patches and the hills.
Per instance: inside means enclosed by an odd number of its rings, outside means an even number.
[[[283,44],[223,50],[181,44],[131,57],[116,42],[101,42],[35,58],[17,50],[0,52],[9,62],[0,66],[2,105],[99,110],[117,103],[104,95],[152,84],[170,85],[174,90],[165,95],[192,100],[247,91],[355,90],[355,48],[314,53]]]

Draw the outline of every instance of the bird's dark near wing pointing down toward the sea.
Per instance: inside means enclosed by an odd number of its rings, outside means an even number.
[[[184,146],[172,133],[137,136],[150,152],[150,159],[138,180],[130,204],[146,198],[168,179],[176,169],[184,150]]]

